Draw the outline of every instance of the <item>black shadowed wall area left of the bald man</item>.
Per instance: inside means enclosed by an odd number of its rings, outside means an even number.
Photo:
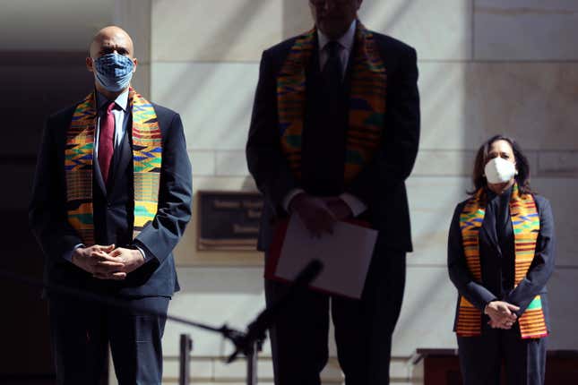
[[[0,190],[2,270],[42,277],[42,255],[30,233],[27,213],[40,134],[49,114],[91,90],[85,56],[85,52],[0,51],[0,168],[4,186],[9,185]],[[0,318],[0,382],[34,378],[41,383],[54,371],[46,303],[36,288],[3,281],[0,291],[4,311],[10,312]]]

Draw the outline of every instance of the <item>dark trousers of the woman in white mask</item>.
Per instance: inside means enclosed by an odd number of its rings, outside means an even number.
[[[484,329],[480,337],[458,337],[463,383],[499,384],[504,362],[508,385],[542,385],[546,343],[547,338],[520,338],[517,327]]]

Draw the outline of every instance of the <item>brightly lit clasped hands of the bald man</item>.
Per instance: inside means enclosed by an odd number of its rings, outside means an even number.
[[[99,279],[123,280],[144,264],[139,250],[115,248],[114,244],[78,247],[73,252],[73,264]]]

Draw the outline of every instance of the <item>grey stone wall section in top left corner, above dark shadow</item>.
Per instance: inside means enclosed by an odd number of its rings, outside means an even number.
[[[9,51],[88,51],[113,21],[114,0],[2,0],[0,47]]]

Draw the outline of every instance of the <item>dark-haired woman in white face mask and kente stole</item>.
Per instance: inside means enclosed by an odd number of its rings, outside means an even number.
[[[504,362],[508,385],[543,384],[556,254],[550,204],[532,193],[528,159],[503,135],[479,148],[473,183],[453,214],[447,258],[464,383],[499,384]]]

